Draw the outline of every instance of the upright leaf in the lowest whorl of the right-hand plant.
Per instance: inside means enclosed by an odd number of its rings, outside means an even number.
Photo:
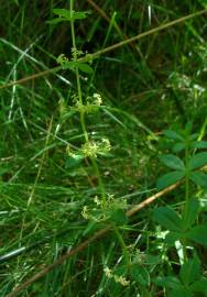
[[[185,286],[188,286],[200,276],[200,262],[198,257],[189,258],[179,271],[179,277]]]

